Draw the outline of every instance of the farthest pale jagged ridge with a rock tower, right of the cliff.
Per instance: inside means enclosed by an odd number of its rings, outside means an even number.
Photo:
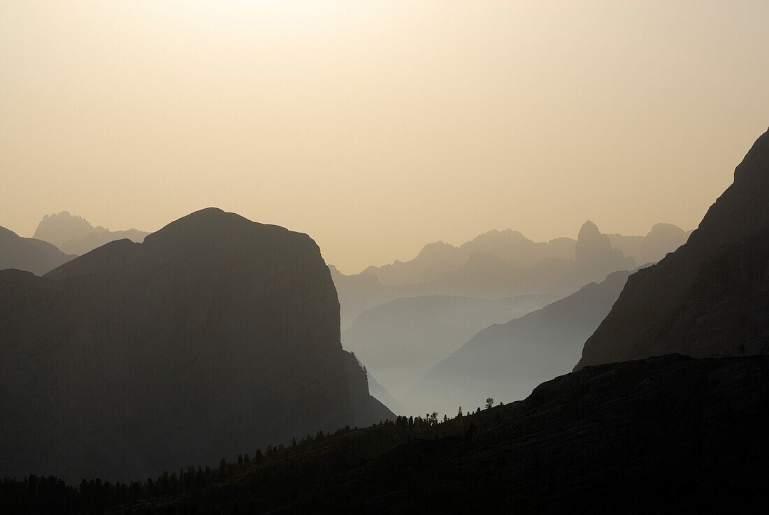
[[[601,234],[585,222],[578,239],[536,243],[518,231],[489,231],[454,247],[426,245],[411,261],[368,267],[361,274],[332,270],[341,302],[342,329],[362,312],[399,297],[457,295],[497,300],[526,294],[574,293],[613,271],[656,261],[687,234],[657,224],[645,237]]]

